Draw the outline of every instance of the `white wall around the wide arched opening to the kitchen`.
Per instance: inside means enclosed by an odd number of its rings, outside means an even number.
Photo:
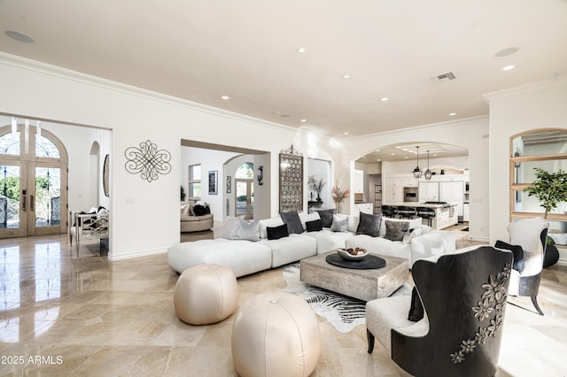
[[[352,162],[368,154],[372,150],[396,143],[408,142],[439,142],[453,144],[469,150],[469,171],[470,171],[470,227],[469,237],[472,240],[488,241],[490,231],[490,217],[488,211],[488,119],[478,117],[472,119],[462,119],[446,123],[425,125],[402,129],[396,132],[386,132],[376,135],[366,135],[349,139],[346,142],[346,154],[341,156]],[[349,152],[350,153],[347,153]],[[455,159],[456,160],[456,159]],[[416,161],[407,162],[412,171]],[[458,160],[459,165],[465,164],[464,159]],[[438,164],[438,162],[436,162]],[[421,161],[420,161],[421,165]],[[430,158],[431,165],[431,158]],[[465,165],[466,166],[466,165]],[[464,167],[464,166],[463,166]],[[382,176],[389,172],[387,164],[382,164]],[[397,170],[398,168],[396,168]],[[399,172],[395,172],[399,173]],[[349,204],[353,204],[353,197]]]

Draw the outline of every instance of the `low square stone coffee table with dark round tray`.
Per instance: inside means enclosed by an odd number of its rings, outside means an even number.
[[[358,270],[331,265],[325,258],[333,253],[337,251],[302,259],[299,280],[363,301],[390,296],[408,281],[409,265],[406,258],[375,254],[384,258],[386,261],[384,267]]]

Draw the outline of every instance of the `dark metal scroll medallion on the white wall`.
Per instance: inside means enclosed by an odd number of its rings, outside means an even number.
[[[140,142],[140,148],[129,147],[125,152],[126,171],[141,174],[148,182],[155,181],[159,174],[171,172],[171,154],[167,150],[158,150],[158,145],[150,142]]]

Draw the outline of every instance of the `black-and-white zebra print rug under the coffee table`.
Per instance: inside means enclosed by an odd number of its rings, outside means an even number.
[[[348,333],[366,323],[366,302],[320,289],[299,281],[299,264],[283,268],[286,292],[292,292],[311,304],[317,315],[327,319],[339,333]]]

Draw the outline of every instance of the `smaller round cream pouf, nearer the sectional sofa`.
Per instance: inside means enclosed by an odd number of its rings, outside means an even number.
[[[235,311],[237,302],[237,278],[225,265],[195,265],[175,285],[175,313],[190,325],[219,322]]]

